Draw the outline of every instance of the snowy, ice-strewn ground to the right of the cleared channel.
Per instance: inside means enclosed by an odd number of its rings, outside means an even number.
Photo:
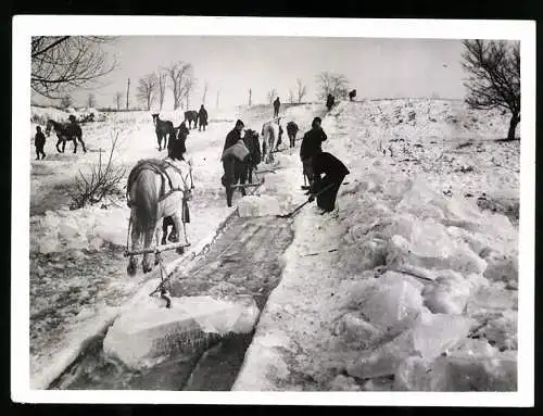
[[[323,127],[349,185],[336,214],[296,216],[232,390],[516,390],[519,142],[493,141],[507,118],[382,100],[341,102]],[[300,193],[298,154],[281,163]]]

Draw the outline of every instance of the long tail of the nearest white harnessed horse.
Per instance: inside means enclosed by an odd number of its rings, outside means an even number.
[[[136,210],[135,226],[140,231],[153,228],[156,225],[159,207],[155,174],[149,169],[141,171],[131,188],[131,204]]]

